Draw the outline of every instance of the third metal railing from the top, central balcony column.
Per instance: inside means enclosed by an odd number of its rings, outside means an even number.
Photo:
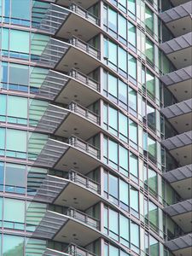
[[[94,90],[100,91],[100,84],[95,79],[91,79],[89,76],[85,75],[84,73],[80,73],[76,69],[72,69],[69,72],[69,76],[83,82],[84,84],[87,84]]]

